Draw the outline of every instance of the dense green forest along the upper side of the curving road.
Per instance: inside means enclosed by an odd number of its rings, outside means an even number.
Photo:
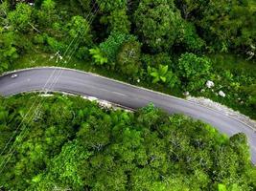
[[[91,70],[256,118],[255,20],[255,0],[2,0],[0,73]]]

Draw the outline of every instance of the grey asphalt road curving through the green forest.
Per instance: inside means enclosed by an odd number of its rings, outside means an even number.
[[[249,141],[252,162],[256,163],[255,131],[233,117],[225,116],[196,103],[174,96],[166,96],[146,89],[131,86],[95,74],[87,74],[74,70],[59,68],[36,68],[0,76],[0,95],[12,96],[31,91],[59,91],[84,96],[96,96],[128,108],[137,109],[150,102],[167,112],[185,114],[210,123],[221,133],[232,136],[243,132]]]

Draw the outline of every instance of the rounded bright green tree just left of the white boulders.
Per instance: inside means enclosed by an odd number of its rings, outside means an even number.
[[[202,88],[211,72],[211,63],[205,57],[184,53],[178,60],[176,72],[186,90]]]

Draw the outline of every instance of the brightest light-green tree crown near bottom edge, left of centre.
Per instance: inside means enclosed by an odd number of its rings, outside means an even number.
[[[35,186],[37,189],[47,190],[58,186],[80,190],[83,183],[79,172],[82,161],[89,156],[90,153],[77,140],[66,143],[58,156],[51,159],[48,174],[36,175],[30,189],[33,190]]]

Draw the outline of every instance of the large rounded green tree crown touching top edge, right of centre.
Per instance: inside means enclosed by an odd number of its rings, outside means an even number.
[[[143,43],[158,52],[172,48],[180,19],[178,11],[167,0],[143,0],[134,14],[134,22]]]

